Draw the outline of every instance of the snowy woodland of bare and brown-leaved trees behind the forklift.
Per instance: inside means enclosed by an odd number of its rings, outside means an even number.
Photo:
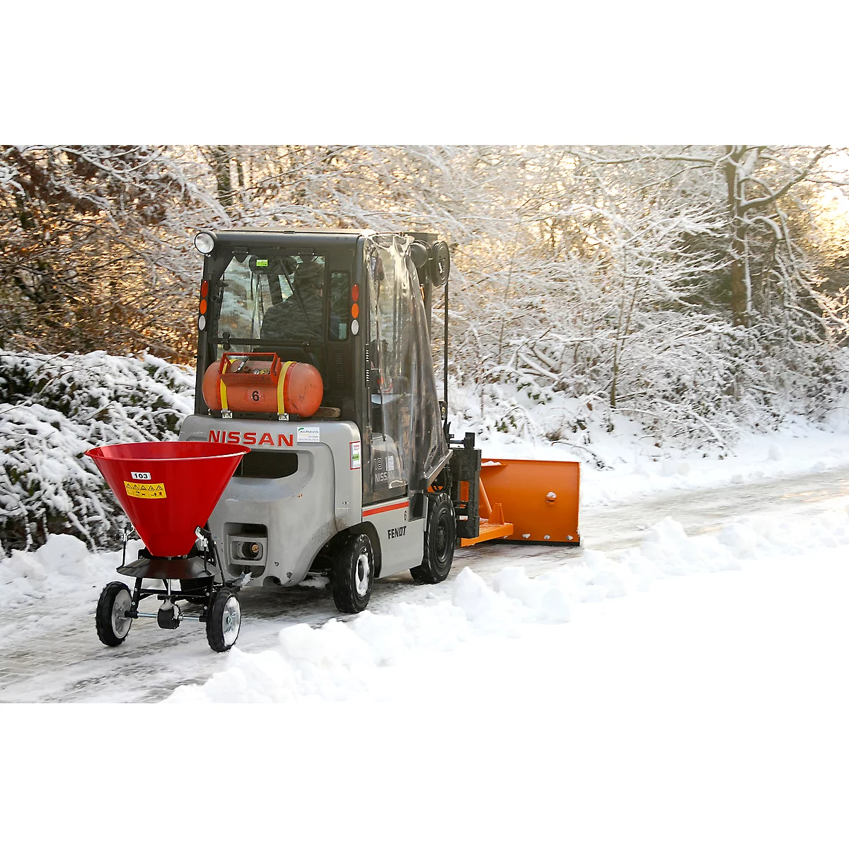
[[[200,228],[426,230],[452,249],[465,419],[722,449],[846,393],[847,168],[743,144],[2,146],[0,348],[191,365]]]

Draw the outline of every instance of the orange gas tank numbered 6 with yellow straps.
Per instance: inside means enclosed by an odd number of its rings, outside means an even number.
[[[273,353],[224,354],[204,374],[204,401],[211,410],[291,413],[308,419],[324,396],[318,368],[282,363]]]

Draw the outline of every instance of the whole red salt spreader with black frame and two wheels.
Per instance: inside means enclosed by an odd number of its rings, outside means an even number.
[[[155,616],[160,628],[170,629],[183,620],[205,622],[214,651],[228,651],[236,642],[241,623],[237,593],[245,576],[228,580],[206,523],[248,451],[207,442],[140,442],[86,452],[145,545],[138,559],[127,563],[124,543],[118,572],[135,578],[132,594],[120,581],[100,593],[96,621],[102,643],[123,643],[132,620],[140,616]],[[143,587],[146,579],[162,582],[164,590]],[[173,582],[180,588],[175,590]],[[160,609],[140,613],[139,602],[150,596],[160,599]],[[180,600],[202,605],[203,612],[184,616]]]

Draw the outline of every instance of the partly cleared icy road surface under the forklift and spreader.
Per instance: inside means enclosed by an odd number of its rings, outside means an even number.
[[[627,505],[583,509],[583,541],[585,548],[613,554],[638,544],[644,531],[666,516],[680,522],[690,535],[717,531],[742,515],[781,515],[796,520],[797,524],[801,522],[803,527],[805,517],[815,517],[846,499],[849,499],[846,469],[777,481],[739,483],[721,489],[674,492]],[[464,549],[458,552],[451,578],[436,588],[417,587],[404,576],[378,582],[369,610],[378,613],[391,610],[401,601],[432,603],[436,599],[451,599],[456,591],[456,577],[465,566],[492,582],[507,565],[521,565],[533,577],[575,562],[581,554],[576,549],[503,543]],[[109,574],[112,565],[109,558],[103,559],[104,581],[112,579]],[[171,633],[160,631],[153,621],[139,620],[133,624],[126,644],[118,649],[106,649],[98,642],[93,628],[100,582],[93,580],[91,571],[85,574],[89,583],[74,586],[67,594],[47,593],[42,599],[3,610],[0,700],[161,700],[181,684],[203,683],[227,668],[228,658],[211,653],[202,627],[193,623]],[[662,597],[662,593],[653,592],[653,598]],[[153,609],[155,602],[149,604]],[[303,622],[319,625],[337,616],[329,594],[314,589],[247,588],[242,594],[242,604],[244,619],[239,649],[244,653],[278,646],[282,627]],[[601,607],[606,609],[606,605]]]

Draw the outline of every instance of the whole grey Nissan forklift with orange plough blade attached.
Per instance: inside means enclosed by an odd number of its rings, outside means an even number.
[[[250,448],[208,522],[222,580],[327,576],[336,607],[357,613],[376,579],[444,581],[458,543],[579,544],[577,463],[483,460],[474,434],[450,433],[444,241],[293,228],[194,245],[197,391],[179,438]]]

